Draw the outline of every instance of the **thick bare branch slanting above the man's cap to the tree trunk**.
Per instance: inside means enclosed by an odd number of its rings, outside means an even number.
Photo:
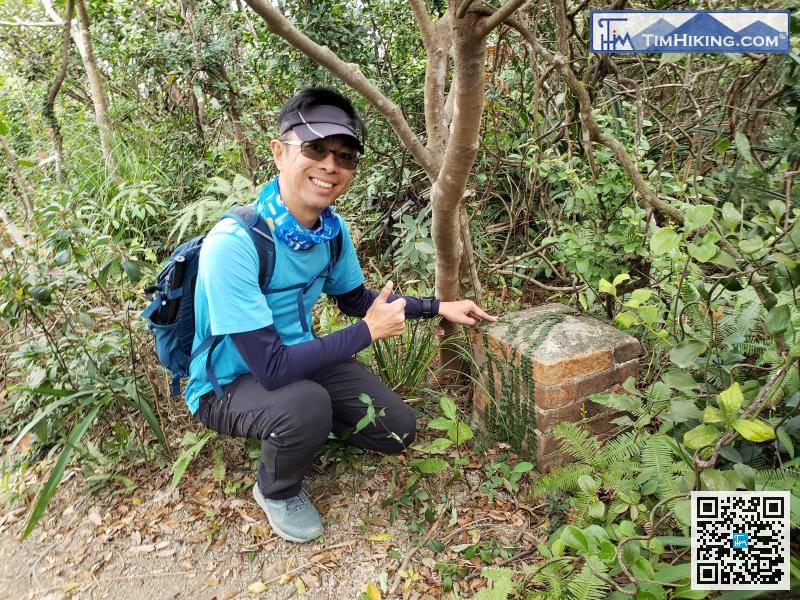
[[[346,63],[336,56],[327,46],[320,46],[311,41],[305,34],[296,29],[281,12],[266,0],[246,0],[275,35],[283,38],[291,46],[311,58],[314,62],[328,69],[339,77],[344,83],[358,92],[367,102],[372,104],[389,121],[394,132],[408,148],[425,173],[435,181],[438,169],[435,161],[427,148],[422,144],[417,135],[412,131],[403,116],[400,107],[375,87],[361,72],[358,65]]]

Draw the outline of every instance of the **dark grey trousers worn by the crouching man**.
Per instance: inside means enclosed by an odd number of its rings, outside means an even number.
[[[367,413],[360,394],[372,398],[375,423],[353,433],[348,442],[365,450],[396,454],[414,440],[416,413],[355,358],[320,369],[307,379],[272,391],[252,374],[223,388],[224,395],[203,396],[195,416],[209,429],[232,437],[261,440],[258,486],[265,498],[300,493],[300,484],[328,434],[353,430]]]

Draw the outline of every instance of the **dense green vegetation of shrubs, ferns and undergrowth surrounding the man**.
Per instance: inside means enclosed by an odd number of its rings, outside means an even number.
[[[688,589],[687,492],[791,490],[800,518],[800,11],[769,3],[793,11],[788,55],[601,58],[586,51],[586,23],[605,4],[559,13],[559,1],[531,3],[520,28],[489,37],[462,293],[495,312],[547,299],[580,307],[642,340],[644,357],[625,394],[595,398],[628,413],[628,433],[600,449],[562,424],[574,464],[532,481],[524,462],[487,473],[490,498],[543,498],[551,535],[516,571],[485,576],[494,597],[704,597]],[[277,4],[425,130],[425,52],[404,0]],[[626,4],[722,7],[615,6]],[[238,0],[49,5],[0,1],[0,489],[17,501],[29,491],[21,474],[53,465],[26,534],[71,460],[90,488],[124,487],[119,467],[131,463],[172,468],[178,485],[203,451],[213,436],[169,398],[138,317],[142,287],[179,240],[273,174],[268,141],[286,99],[312,84],[346,91]],[[445,9],[427,2],[434,18]],[[47,26],[71,13],[72,32]],[[91,65],[69,43],[75,28],[85,42],[83,23],[106,120]],[[574,85],[542,58],[559,44]],[[430,182],[384,117],[348,93],[370,135],[337,209],[373,284],[391,276],[429,292]],[[340,325],[320,307],[322,331]],[[427,398],[435,353],[419,326],[363,358]],[[453,441],[471,431],[447,398],[425,409],[447,435],[414,451],[399,506],[432,521],[439,507],[419,486],[458,476]],[[466,575],[440,569],[448,589]]]

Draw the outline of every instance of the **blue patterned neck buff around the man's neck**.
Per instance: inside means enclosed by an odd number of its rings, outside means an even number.
[[[261,188],[255,207],[266,219],[270,230],[292,250],[308,250],[339,233],[339,219],[332,206],[326,207],[319,215],[320,225],[316,229],[301,225],[281,200],[277,176]]]

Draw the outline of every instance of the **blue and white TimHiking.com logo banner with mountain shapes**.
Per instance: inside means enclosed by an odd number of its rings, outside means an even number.
[[[595,53],[789,52],[788,10],[593,10]]]

